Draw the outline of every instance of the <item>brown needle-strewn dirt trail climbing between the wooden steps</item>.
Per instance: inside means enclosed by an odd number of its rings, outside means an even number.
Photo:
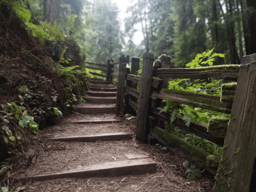
[[[92,87],[91,85],[90,87]],[[90,93],[90,92],[89,92]],[[95,93],[93,93],[95,95]],[[102,94],[100,94],[102,97]],[[94,97],[94,96],[90,96]],[[86,102],[79,104],[79,107],[108,107],[111,104],[97,104]],[[93,110],[93,108],[92,108]],[[121,120],[114,123],[113,120]],[[110,120],[111,123],[104,123]],[[87,123],[77,123],[81,121],[92,121]],[[102,122],[101,122],[102,121]],[[97,123],[96,123],[97,122]],[[111,133],[128,133],[130,139],[124,140],[97,140],[94,142],[63,142],[54,141],[55,138],[82,137],[83,135],[101,135]],[[31,143],[33,147],[27,155],[36,154],[30,166],[23,165],[14,170],[11,175],[13,189],[21,191],[212,191],[210,179],[199,179],[188,181],[185,170],[182,167],[183,159],[179,154],[166,151],[161,146],[150,146],[135,140],[135,123],[127,121],[124,117],[110,114],[73,114],[62,119],[59,125],[39,130],[39,137],[34,136]],[[129,159],[127,155],[136,157]],[[146,157],[146,158],[145,158]],[[150,159],[156,164],[155,173],[147,173],[148,168],[141,168],[138,165],[135,171],[117,170],[97,173],[97,177],[83,177],[81,173],[76,178],[68,175],[62,178],[51,179],[51,174],[66,174],[70,172],[84,170],[84,167],[95,167],[114,165],[116,167],[122,162],[127,164],[132,161]],[[152,162],[153,162],[152,161]],[[143,165],[145,166],[145,165]],[[147,165],[148,166],[148,165]],[[150,165],[151,166],[151,165]],[[114,167],[114,168],[116,168]],[[134,169],[134,168],[125,168]],[[130,174],[136,170],[142,170],[145,174]],[[151,169],[151,168],[150,168]],[[148,169],[148,170],[150,170]],[[127,172],[129,174],[123,173]],[[122,172],[122,173],[121,173]],[[122,175],[117,176],[115,175]],[[38,175],[42,175],[38,176]],[[74,176],[74,175],[73,175]],[[73,177],[72,176],[72,177]],[[111,177],[109,177],[111,176]],[[38,177],[31,180],[31,177]],[[22,179],[30,178],[30,179]]]

